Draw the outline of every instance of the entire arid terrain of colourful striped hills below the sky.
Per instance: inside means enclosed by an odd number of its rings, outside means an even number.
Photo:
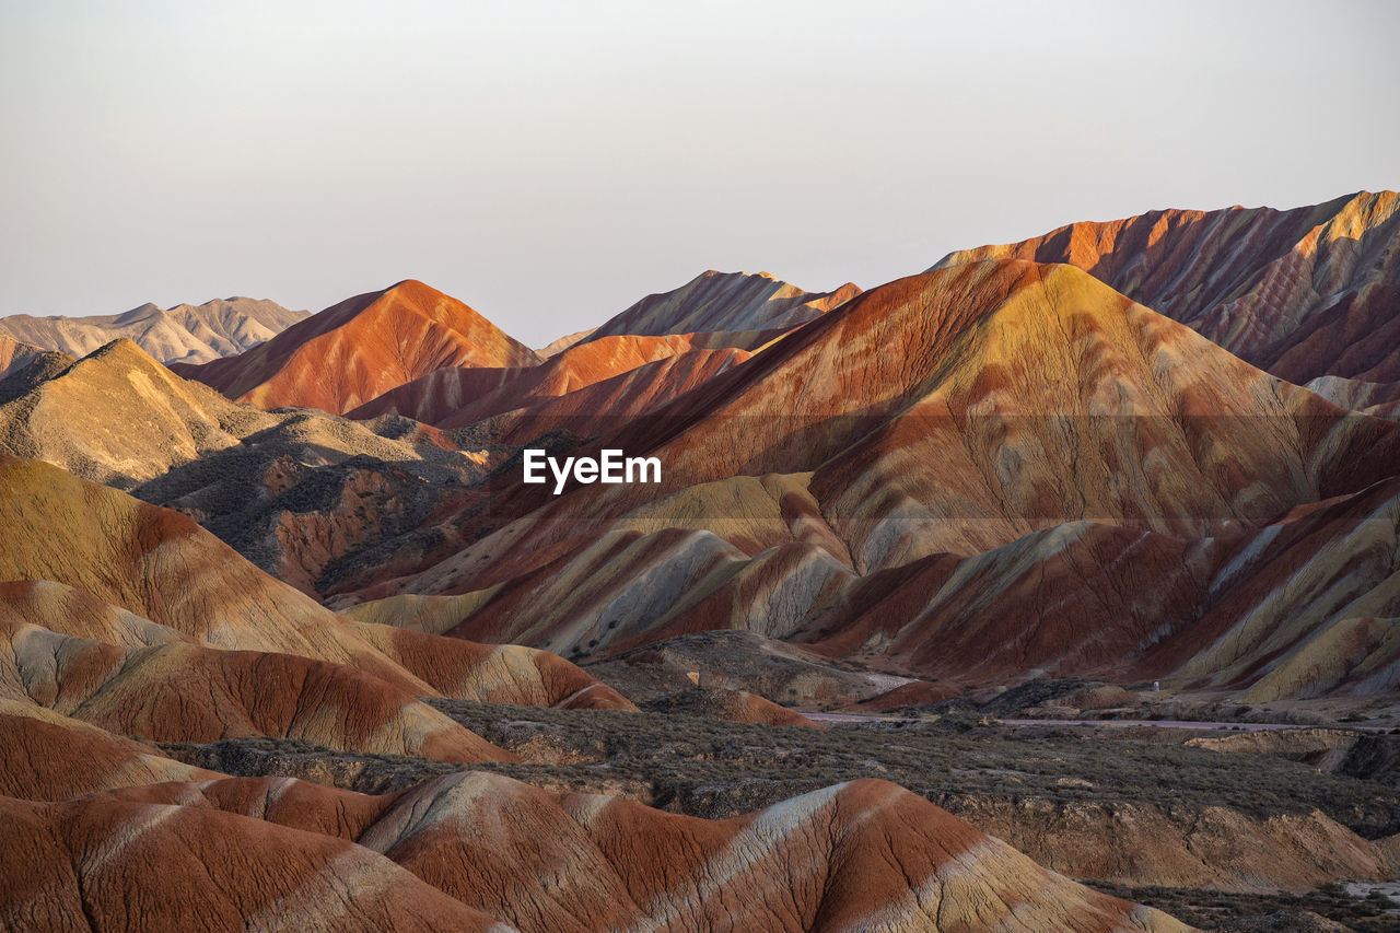
[[[1396,256],[0,318],[0,927],[1400,929]]]

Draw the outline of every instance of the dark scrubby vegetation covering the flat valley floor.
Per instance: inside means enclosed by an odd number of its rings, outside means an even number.
[[[937,721],[837,724],[818,731],[676,713],[430,702],[517,752],[522,762],[451,765],[269,738],[162,748],[181,761],[225,773],[287,775],[363,793],[400,790],[462,769],[491,770],[550,790],[626,796],[711,818],[749,813],[855,778],[882,778],[969,817],[988,801],[1028,799],[1177,810],[1225,806],[1253,817],[1316,808],[1366,838],[1400,832],[1400,789],[1393,783],[1327,775],[1284,758],[1190,748],[1182,745],[1187,735],[1170,730],[1105,728],[1096,734],[1056,726],[1007,727],[980,714],[953,713]],[[1264,897],[1096,887],[1203,929],[1271,929],[1229,923],[1278,911],[1312,911],[1357,930],[1394,929],[1379,901],[1364,902],[1340,890]]]

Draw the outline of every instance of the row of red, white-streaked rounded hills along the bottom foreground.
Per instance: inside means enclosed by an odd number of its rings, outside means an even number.
[[[378,799],[238,779],[0,811],[17,842],[0,916],[32,929],[1187,929],[878,780],[724,821],[486,773]]]

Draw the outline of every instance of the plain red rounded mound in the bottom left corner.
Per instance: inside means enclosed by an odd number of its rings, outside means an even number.
[[[333,836],[221,810],[0,797],[11,930],[489,930],[494,920]]]

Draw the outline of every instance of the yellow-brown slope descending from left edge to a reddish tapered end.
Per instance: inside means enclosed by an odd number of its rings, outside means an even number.
[[[0,580],[14,581],[0,584],[0,625],[21,635],[25,626],[52,630],[53,637],[42,630],[29,636],[35,644],[87,653],[90,672],[134,665],[140,678],[174,677],[185,684],[182,668],[204,665],[204,674],[188,679],[190,691],[210,678],[245,689],[252,675],[300,681],[315,675],[335,689],[370,691],[367,696],[389,691],[395,698],[484,699],[489,693],[497,702],[554,705],[587,692],[588,705],[631,709],[573,664],[543,651],[522,649],[503,664],[487,646],[412,632],[385,635],[381,626],[344,619],[262,573],[189,518],[55,466],[0,457],[0,539],[8,542],[0,551]],[[42,660],[46,649],[35,650]],[[231,672],[228,665],[251,674]],[[214,668],[223,672],[216,675]],[[52,681],[57,674],[45,677]],[[235,698],[228,699],[235,709]],[[224,713],[214,706],[210,714]],[[428,719],[442,721],[435,713]]]

